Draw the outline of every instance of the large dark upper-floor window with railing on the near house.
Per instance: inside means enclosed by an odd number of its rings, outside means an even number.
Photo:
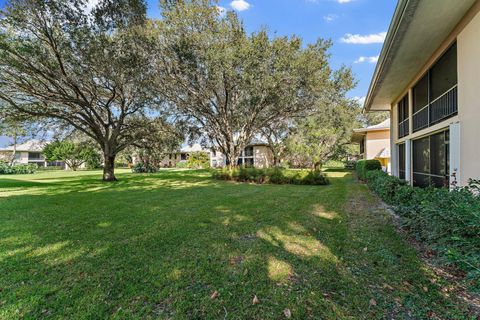
[[[457,81],[457,44],[454,43],[413,87],[414,132],[457,113]]]

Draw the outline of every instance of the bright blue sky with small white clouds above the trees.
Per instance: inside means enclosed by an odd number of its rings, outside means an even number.
[[[90,0],[95,1],[95,0]],[[5,0],[0,0],[3,7]],[[147,0],[148,15],[158,17],[158,0]],[[271,34],[297,35],[305,43],[331,39],[331,64],[352,68],[357,87],[350,97],[365,97],[396,0],[220,0],[235,10],[249,32],[266,27]],[[0,146],[7,141],[0,137]]]

